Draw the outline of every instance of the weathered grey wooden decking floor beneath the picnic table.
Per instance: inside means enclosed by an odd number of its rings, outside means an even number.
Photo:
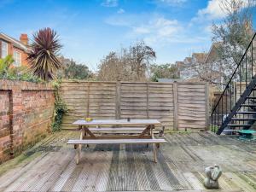
[[[223,168],[222,191],[256,191],[256,143],[210,133],[166,135],[158,163],[144,145],[91,145],[77,166],[62,131],[1,165],[0,191],[204,191],[206,166]],[[26,158],[24,158],[26,157]],[[216,191],[216,190],[214,190]]]

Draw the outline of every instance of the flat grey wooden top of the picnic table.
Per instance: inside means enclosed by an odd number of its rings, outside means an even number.
[[[157,119],[99,119],[86,121],[84,119],[76,120],[73,125],[160,125]]]

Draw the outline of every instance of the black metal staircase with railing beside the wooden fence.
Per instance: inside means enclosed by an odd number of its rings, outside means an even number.
[[[248,130],[256,121],[256,33],[212,110],[211,130],[218,135]]]

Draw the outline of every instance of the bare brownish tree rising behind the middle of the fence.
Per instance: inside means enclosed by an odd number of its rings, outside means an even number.
[[[122,48],[117,54],[110,52],[98,66],[98,79],[104,81],[143,81],[146,72],[155,58],[155,52],[143,41]]]

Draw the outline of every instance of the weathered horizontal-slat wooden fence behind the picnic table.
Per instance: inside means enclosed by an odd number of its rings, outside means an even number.
[[[64,129],[85,117],[159,119],[171,130],[208,128],[208,86],[204,83],[63,81],[59,92],[68,108]]]

